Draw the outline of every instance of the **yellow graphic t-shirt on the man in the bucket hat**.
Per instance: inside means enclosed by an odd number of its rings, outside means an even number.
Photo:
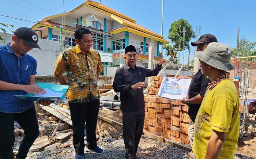
[[[234,82],[227,78],[207,90],[195,120],[193,153],[205,158],[212,129],[226,132],[220,159],[234,159],[239,136],[239,97]]]

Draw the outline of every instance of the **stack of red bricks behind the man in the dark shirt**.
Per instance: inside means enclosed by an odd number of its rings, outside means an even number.
[[[173,101],[157,96],[162,77],[154,77],[153,87],[157,91],[144,96],[145,101],[145,121],[144,130],[167,139],[183,144],[189,144],[188,126],[190,118],[188,116],[188,106],[179,100]]]

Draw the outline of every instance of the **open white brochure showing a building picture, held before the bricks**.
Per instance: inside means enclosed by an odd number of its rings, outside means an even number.
[[[173,77],[163,77],[161,86],[158,91],[158,96],[169,99],[183,99],[188,94],[188,88],[191,79],[177,80]]]

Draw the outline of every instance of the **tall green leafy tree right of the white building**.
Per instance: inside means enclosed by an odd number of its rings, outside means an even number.
[[[189,47],[190,39],[196,37],[195,32],[192,30],[193,27],[188,23],[188,20],[179,19],[171,24],[168,34],[171,44],[164,45],[163,49],[167,50],[166,55],[170,56],[169,61],[172,63],[178,62],[178,60],[175,59],[177,58],[177,52],[181,51],[183,48],[183,27],[185,27],[185,49]]]

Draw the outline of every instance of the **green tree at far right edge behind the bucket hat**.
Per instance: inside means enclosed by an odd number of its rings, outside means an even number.
[[[241,39],[238,46],[239,57],[256,56],[256,42],[250,42],[248,39]],[[238,57],[237,48],[233,48],[233,57]]]

